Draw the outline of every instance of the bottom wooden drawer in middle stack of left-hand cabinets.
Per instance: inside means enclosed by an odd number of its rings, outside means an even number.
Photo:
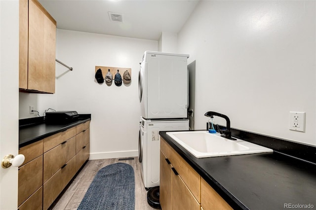
[[[76,158],[73,157],[67,165],[59,169],[46,183],[43,184],[43,209],[46,210],[58,197],[64,187],[67,185],[70,176],[74,176],[74,168],[76,164]]]

